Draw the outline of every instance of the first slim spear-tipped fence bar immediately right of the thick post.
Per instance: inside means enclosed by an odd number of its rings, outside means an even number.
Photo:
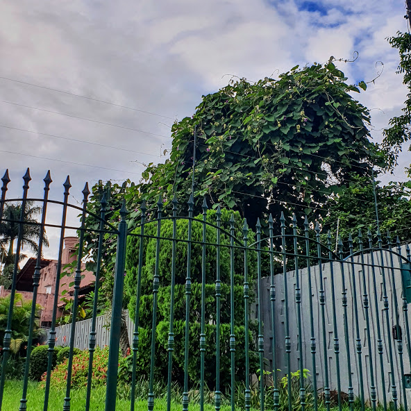
[[[134,314],[134,331],[133,331],[133,371],[131,373],[131,405],[130,410],[134,411],[135,403],[135,380],[137,374],[137,352],[138,352],[138,335],[140,326],[140,296],[142,283],[142,268],[144,258],[144,228],[146,221],[146,201],[142,202],[141,210],[141,226],[140,226],[140,246],[138,253],[138,269],[137,269],[137,294],[135,296],[135,314]]]

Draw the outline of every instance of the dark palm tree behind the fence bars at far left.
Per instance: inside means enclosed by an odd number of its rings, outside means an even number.
[[[22,210],[21,204],[6,204],[3,210],[3,221],[0,221],[0,254],[1,261],[4,264],[4,269],[14,265],[15,253],[13,249],[15,240],[19,237],[19,221]],[[33,253],[38,252],[38,241],[40,239],[41,227],[35,217],[40,215],[42,207],[33,205],[33,201],[27,201],[23,215],[23,233],[22,233],[22,249],[24,247],[30,249]],[[49,246],[49,240],[44,231],[43,246]],[[20,254],[19,260],[26,258],[26,255]]]

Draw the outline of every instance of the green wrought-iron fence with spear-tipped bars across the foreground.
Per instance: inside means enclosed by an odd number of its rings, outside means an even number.
[[[85,226],[87,201],[90,191],[85,185],[83,205],[69,203],[69,178],[63,184],[62,201],[49,199],[51,176],[44,178],[44,197],[31,199],[28,196],[31,177],[26,172],[23,178],[23,195],[20,199],[8,199],[6,192],[10,178],[8,172],[3,176],[1,187],[0,221],[10,222],[3,215],[6,204],[18,202],[22,213],[18,221],[19,236],[15,267],[10,287],[10,307],[3,349],[1,369],[4,370],[10,358],[12,340],[12,310],[17,290],[17,272],[19,254],[21,253],[24,226],[24,210],[28,201],[42,205],[42,216],[37,225],[41,228],[38,242],[39,252],[33,275],[33,305],[31,324],[26,343],[26,360],[22,378],[22,395],[19,410],[34,410],[28,395],[29,369],[32,349],[32,335],[35,327],[35,310],[37,288],[40,280],[42,259],[42,236],[44,230],[53,227],[60,230],[58,269],[53,300],[53,319],[49,331],[48,368],[42,388],[42,410],[47,411],[52,391],[51,378],[53,369],[53,351],[56,346],[56,320],[58,315],[58,290],[62,267],[62,249],[65,231],[76,228],[79,233],[78,255],[74,276],[74,293],[72,296],[73,312],[71,335],[69,339],[69,358],[65,395],[61,398],[62,410],[71,409],[72,367],[74,361],[74,336],[76,331],[76,312],[78,310],[79,291],[81,288],[82,261],[85,233],[90,228]],[[50,204],[60,206],[61,223],[47,222],[47,210]],[[398,238],[392,240],[388,235],[367,233],[367,237],[355,233],[343,244],[337,244],[328,234],[326,244],[321,243],[321,226],[317,222],[312,226],[305,221],[299,224],[294,215],[292,219],[280,218],[280,227],[274,226],[273,219],[262,224],[258,220],[255,232],[251,232],[247,222],[242,225],[242,235],[235,235],[235,219],[222,221],[222,211],[217,208],[215,221],[208,216],[207,201],[202,203],[202,218],[194,218],[194,198],[187,201],[187,215],[178,215],[178,203],[172,201],[171,215],[163,210],[162,198],[156,205],[143,203],[140,207],[141,223],[137,230],[130,232],[126,224],[128,214],[125,206],[121,208],[121,221],[113,226],[106,221],[106,210],[110,206],[103,196],[100,215],[91,215],[98,222],[99,228],[93,228],[99,236],[97,246],[97,265],[95,271],[95,292],[90,328],[90,360],[88,362],[87,383],[82,408],[91,410],[94,351],[96,349],[96,318],[99,301],[100,273],[104,235],[117,237],[117,260],[115,265],[115,287],[112,300],[110,321],[110,344],[106,382],[106,411],[120,410],[117,400],[117,376],[120,355],[120,328],[122,300],[124,295],[124,278],[126,270],[126,245],[132,238],[138,240],[137,289],[135,290],[136,307],[133,322],[135,325],[131,342],[132,371],[130,376],[130,397],[127,408],[135,409],[137,397],[137,380],[146,375],[148,378],[148,395],[146,407],[149,411],[159,409],[156,405],[158,373],[158,346],[162,344],[167,358],[167,376],[163,376],[165,387],[165,408],[167,411],[178,406],[183,410],[199,407],[202,411],[210,403],[210,392],[215,410],[222,407],[235,409],[274,409],[274,410],[319,410],[331,408],[349,408],[365,410],[381,408],[383,410],[408,409],[408,387],[411,387],[410,370],[410,327],[408,303],[411,301],[411,262],[410,249],[403,246]],[[147,210],[151,210],[151,219]],[[153,212],[153,209],[156,210]],[[78,227],[66,223],[67,210],[74,209],[81,213]],[[171,236],[164,235],[162,225],[171,220]],[[187,235],[178,233],[178,221],[187,222]],[[147,234],[149,226],[156,226],[156,235]],[[194,240],[194,228],[201,226],[202,239]],[[215,233],[215,240],[209,241],[208,234]],[[214,238],[214,237],[213,237]],[[140,346],[140,315],[142,314],[142,282],[146,276],[144,244],[155,242],[156,259],[153,264],[151,281],[151,344],[149,346],[149,364],[141,369],[137,362]],[[171,259],[167,272],[160,261],[160,251],[165,244],[171,244]],[[183,245],[182,245],[183,244]],[[185,312],[177,316],[176,259],[178,247],[185,249],[184,299]],[[344,253],[344,250],[348,250]],[[194,280],[193,253],[201,255],[201,273]],[[208,257],[215,257],[215,267],[210,267]],[[348,254],[348,255],[344,255]],[[224,275],[228,270],[228,276]],[[240,267],[240,268],[239,268]],[[249,270],[253,272],[249,272]],[[212,296],[206,290],[206,281],[212,271],[215,275],[215,291]],[[255,271],[255,272],[254,272]],[[225,271],[224,271],[225,272]],[[292,275],[290,274],[292,272]],[[128,275],[128,274],[127,274]],[[169,317],[167,321],[167,344],[158,339],[159,294],[165,287],[165,276],[169,276]],[[235,290],[242,278],[242,303],[235,305]],[[264,278],[269,285],[269,303],[267,292],[262,286]],[[280,282],[279,279],[280,278]],[[147,278],[145,278],[147,280]],[[199,293],[194,292],[196,283]],[[380,285],[380,287],[378,287]],[[280,287],[280,290],[278,290]],[[224,290],[227,290],[225,292]],[[198,301],[197,301],[197,300]],[[281,301],[279,301],[279,299]],[[400,305],[401,302],[402,304]],[[194,303],[199,304],[198,333],[190,331],[191,314]],[[253,309],[255,307],[255,309]],[[266,311],[263,311],[267,309]],[[180,312],[180,311],[178,311]],[[225,312],[228,312],[226,315]],[[212,314],[210,314],[212,313]],[[240,314],[239,314],[240,313]],[[239,318],[240,315],[240,318]],[[226,317],[224,317],[226,316]],[[229,333],[224,333],[222,321],[228,321]],[[184,333],[176,339],[176,321],[183,321]],[[241,328],[239,324],[241,323]],[[212,328],[210,328],[212,326]],[[210,329],[212,334],[210,334]],[[240,331],[242,336],[240,337]],[[403,329],[405,330],[403,332]],[[193,354],[193,339],[196,340],[196,352]],[[269,350],[265,349],[269,342]],[[210,347],[215,347],[210,352]],[[238,355],[242,353],[239,363]],[[190,369],[193,355],[199,358],[199,372]],[[174,361],[183,358],[183,378],[177,377]],[[236,357],[237,356],[237,357]],[[191,358],[190,358],[191,357]],[[237,360],[237,363],[236,363]],[[283,364],[279,369],[278,363]],[[214,369],[210,376],[208,370]],[[354,365],[353,365],[354,364]],[[240,372],[240,371],[241,372]],[[307,371],[310,370],[310,371]],[[223,373],[223,374],[221,374]],[[227,378],[226,373],[230,374]],[[192,375],[198,375],[193,378]],[[224,380],[224,382],[223,382]],[[227,382],[228,381],[228,382]],[[173,393],[175,384],[181,384],[182,394]],[[8,393],[9,381],[6,373],[0,377],[0,410],[6,410],[3,402]],[[344,388],[344,389],[343,389]],[[39,388],[40,389],[40,388]],[[369,394],[368,394],[369,393]],[[198,394],[198,395],[197,395]],[[124,407],[122,403],[121,407]],[[40,408],[39,408],[40,409]],[[121,408],[122,410],[123,408]]]

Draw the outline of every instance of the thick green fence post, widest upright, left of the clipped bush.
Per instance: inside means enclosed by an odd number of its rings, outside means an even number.
[[[119,365],[119,345],[121,328],[121,310],[123,304],[124,269],[126,267],[126,201],[120,210],[121,221],[119,223],[119,234],[117,237],[117,260],[115,269],[114,294],[112,299],[112,313],[110,323],[110,345],[108,351],[107,389],[106,389],[106,411],[115,410],[117,398],[117,373]]]

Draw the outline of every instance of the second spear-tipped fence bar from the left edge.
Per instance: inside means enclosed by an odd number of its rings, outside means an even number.
[[[8,355],[10,354],[10,342],[11,342],[11,323],[12,323],[12,312],[15,303],[15,294],[16,294],[16,287],[17,287],[17,269],[19,267],[19,258],[20,258],[20,249],[22,246],[22,238],[24,232],[24,212],[26,211],[26,201],[27,201],[27,192],[28,192],[28,183],[31,181],[30,170],[27,169],[26,174],[23,177],[24,185],[23,185],[23,198],[22,198],[22,205],[20,206],[20,218],[19,218],[19,233],[17,235],[17,249],[15,253],[15,265],[13,268],[12,274],[12,285],[10,291],[10,305],[8,307],[8,315],[7,315],[7,326],[4,333],[3,339],[3,359],[1,362],[1,370],[4,370],[8,361]],[[4,182],[3,182],[4,183]],[[11,247],[10,247],[11,249]],[[11,249],[12,253],[12,249]],[[6,382],[6,373],[1,373],[0,378],[0,411],[1,406],[3,404],[3,392],[4,392],[4,384]]]

